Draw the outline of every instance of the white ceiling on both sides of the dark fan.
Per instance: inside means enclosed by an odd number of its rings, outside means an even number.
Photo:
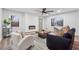
[[[4,8],[8,10],[23,12],[23,13],[33,13],[36,15],[41,15],[42,8]],[[54,11],[50,12],[49,15],[58,14],[58,13],[65,13],[71,11],[77,11],[78,8],[47,8],[46,11]]]

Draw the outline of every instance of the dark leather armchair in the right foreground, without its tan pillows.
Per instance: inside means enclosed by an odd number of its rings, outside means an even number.
[[[70,29],[63,36],[47,35],[46,44],[50,50],[71,50],[74,43],[75,28]]]

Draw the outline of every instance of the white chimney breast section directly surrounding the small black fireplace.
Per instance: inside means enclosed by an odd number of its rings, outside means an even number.
[[[39,18],[36,15],[33,14],[25,14],[25,31],[28,32],[29,31],[29,26],[30,25],[35,25],[36,29],[39,29]]]

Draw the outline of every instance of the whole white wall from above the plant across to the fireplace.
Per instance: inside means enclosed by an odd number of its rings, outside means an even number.
[[[8,18],[11,15],[19,16],[20,17],[20,26],[19,28],[14,28],[13,31],[29,31],[28,26],[29,25],[35,25],[36,29],[38,30],[38,16],[34,14],[28,14],[28,13],[22,13],[17,11],[11,11],[11,10],[3,10],[3,18]]]

